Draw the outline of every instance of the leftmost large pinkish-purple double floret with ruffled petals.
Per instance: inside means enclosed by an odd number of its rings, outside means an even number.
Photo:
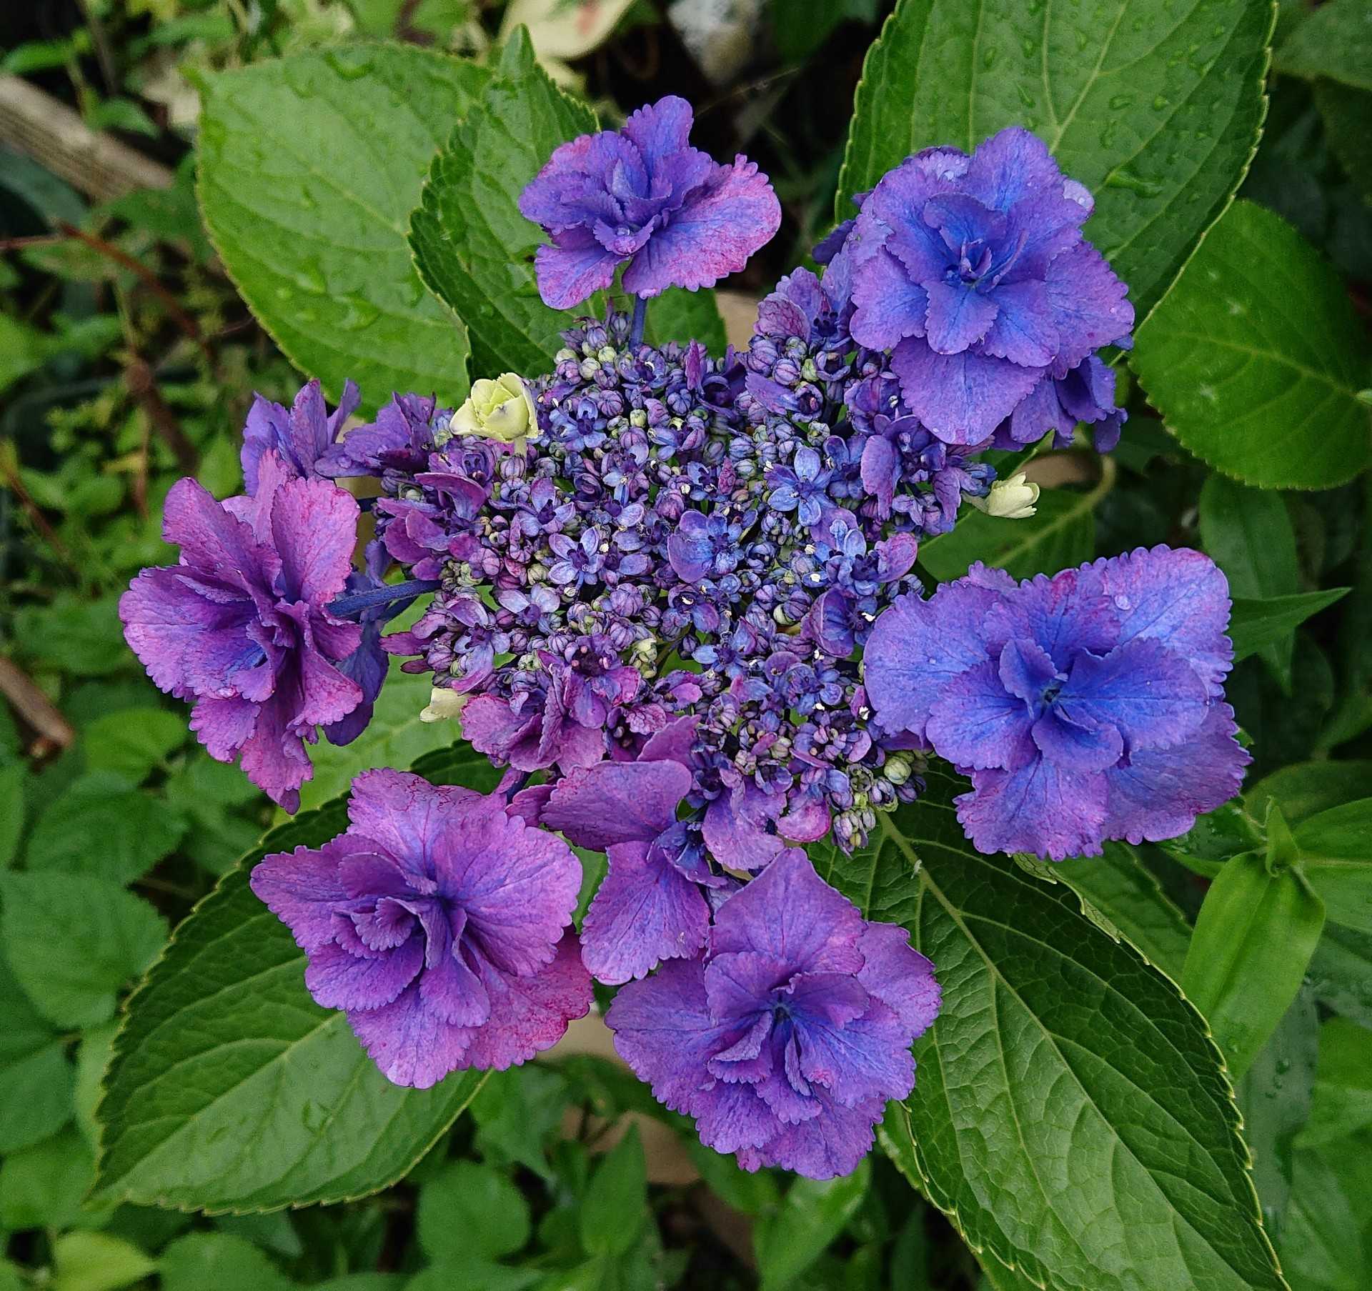
[[[251,498],[217,502],[195,480],[172,486],[163,535],[177,565],[144,569],[119,601],[125,639],[152,680],[195,704],[191,729],[213,757],[287,811],[310,778],[306,742],[366,701],[343,668],[362,628],[336,617],[357,538],[357,502],[294,476],[274,451]]]

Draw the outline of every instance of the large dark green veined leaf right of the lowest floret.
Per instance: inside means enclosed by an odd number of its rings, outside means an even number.
[[[897,1161],[1039,1284],[1284,1287],[1200,1015],[1065,884],[975,852],[962,782],[926,781],[871,848],[819,859],[870,918],[911,930],[943,984],[914,1093],[886,1120]]]

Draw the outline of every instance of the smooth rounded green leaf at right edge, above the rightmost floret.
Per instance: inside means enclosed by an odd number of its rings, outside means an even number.
[[[1329,488],[1372,451],[1362,327],[1332,266],[1236,202],[1139,328],[1131,358],[1168,429],[1259,488]]]

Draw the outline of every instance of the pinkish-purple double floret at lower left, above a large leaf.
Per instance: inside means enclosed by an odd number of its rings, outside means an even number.
[[[381,1074],[427,1089],[556,1044],[591,1004],[568,925],[582,867],[502,794],[366,771],[348,827],[276,852],[252,890],[306,952],[305,984],[342,1008]]]

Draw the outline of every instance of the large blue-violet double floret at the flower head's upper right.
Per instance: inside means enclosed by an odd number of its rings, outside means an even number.
[[[1128,337],[1125,285],[1081,236],[1092,204],[1019,128],[971,156],[927,148],[864,198],[845,244],[852,335],[892,351],[906,405],[940,439],[984,440],[1041,383]]]

